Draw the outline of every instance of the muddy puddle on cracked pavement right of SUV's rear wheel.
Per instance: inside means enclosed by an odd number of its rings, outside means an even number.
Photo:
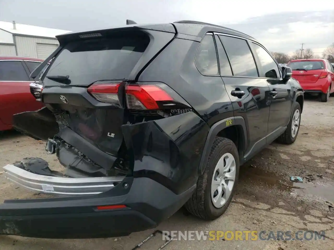
[[[306,178],[303,178],[302,183],[292,182],[287,180],[286,176],[280,176],[273,172],[266,172],[260,168],[248,167],[240,171],[240,180],[246,183],[252,183],[253,185],[266,185],[272,188],[277,188],[285,192],[293,192],[299,195],[313,195],[322,197],[326,201],[334,203],[334,182],[324,181],[321,182],[319,177],[316,180],[309,182]]]

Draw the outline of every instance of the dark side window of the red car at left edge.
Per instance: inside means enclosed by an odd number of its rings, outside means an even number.
[[[0,61],[0,81],[29,81],[21,61]]]

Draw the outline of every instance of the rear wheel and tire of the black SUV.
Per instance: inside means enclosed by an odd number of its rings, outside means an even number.
[[[198,177],[196,191],[185,204],[193,215],[214,220],[229,206],[239,176],[239,154],[235,144],[217,137],[211,147],[205,170]]]

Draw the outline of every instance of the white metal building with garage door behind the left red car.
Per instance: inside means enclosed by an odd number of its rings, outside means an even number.
[[[0,56],[47,58],[59,45],[56,35],[67,30],[0,21]]]

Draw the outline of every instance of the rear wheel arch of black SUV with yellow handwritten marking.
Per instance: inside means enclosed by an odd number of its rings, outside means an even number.
[[[231,139],[238,149],[239,159],[241,160],[245,149],[247,148],[247,130],[246,123],[241,116],[228,117],[214,123],[207,134],[206,141],[203,148],[203,153],[199,162],[198,172],[201,175],[204,172],[207,159],[214,139],[219,137],[226,137]]]

